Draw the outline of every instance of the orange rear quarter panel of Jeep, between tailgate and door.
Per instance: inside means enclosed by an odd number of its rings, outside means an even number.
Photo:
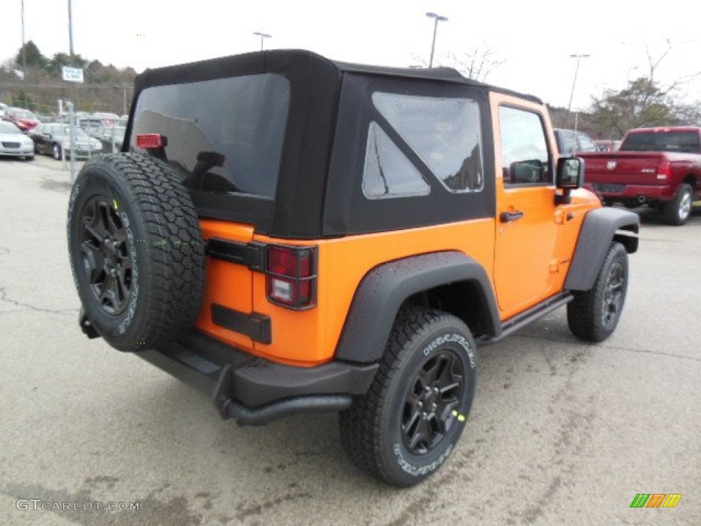
[[[490,219],[322,241],[285,241],[319,248],[317,306],[308,311],[292,311],[271,304],[266,298],[265,276],[254,276],[254,311],[273,319],[273,342],[256,343],[256,353],[301,366],[332,360],[355,290],[371,269],[402,257],[462,250],[491,275],[493,233],[494,220]],[[256,236],[255,240],[280,243],[265,236]]]

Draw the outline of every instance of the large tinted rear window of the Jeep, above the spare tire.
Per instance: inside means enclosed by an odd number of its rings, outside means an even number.
[[[131,148],[137,134],[161,133],[191,189],[273,198],[289,110],[278,74],[153,86],[139,94]]]

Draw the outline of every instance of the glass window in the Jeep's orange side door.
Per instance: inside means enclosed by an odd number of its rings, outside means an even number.
[[[504,184],[550,184],[550,156],[540,115],[499,108]]]

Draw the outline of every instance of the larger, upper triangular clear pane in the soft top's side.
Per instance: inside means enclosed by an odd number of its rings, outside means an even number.
[[[456,193],[482,190],[477,102],[379,92],[372,95],[372,102],[445,189]]]

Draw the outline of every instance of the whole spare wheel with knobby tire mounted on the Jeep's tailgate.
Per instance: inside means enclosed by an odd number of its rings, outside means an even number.
[[[111,346],[152,349],[191,327],[202,303],[204,243],[190,195],[167,163],[93,157],[73,184],[67,229],[83,309]]]

